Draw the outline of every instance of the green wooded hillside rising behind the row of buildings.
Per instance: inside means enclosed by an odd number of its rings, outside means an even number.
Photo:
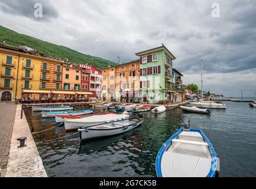
[[[98,69],[108,67],[108,65],[116,65],[116,63],[112,61],[79,53],[70,48],[38,40],[37,38],[30,37],[28,35],[19,34],[0,25],[0,43],[3,43],[3,41],[5,41],[5,44],[12,45],[14,47],[25,45],[27,47],[34,48],[38,52],[46,54],[47,57],[60,58],[62,60],[68,59],[69,62],[77,64],[92,64]]]

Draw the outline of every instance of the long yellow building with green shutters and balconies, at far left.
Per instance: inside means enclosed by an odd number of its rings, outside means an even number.
[[[61,90],[64,61],[0,45],[0,100],[20,100],[23,89]]]

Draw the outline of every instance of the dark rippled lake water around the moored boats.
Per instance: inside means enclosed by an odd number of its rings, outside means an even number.
[[[142,126],[119,136],[80,143],[79,135],[37,144],[48,177],[155,177],[155,157],[161,145],[188,122],[208,136],[221,160],[219,177],[256,177],[256,108],[225,102],[226,110],[211,115],[168,110],[144,113]],[[79,107],[83,109],[83,107]],[[32,114],[34,132],[56,125]],[[34,135],[35,142],[76,132],[64,127]]]

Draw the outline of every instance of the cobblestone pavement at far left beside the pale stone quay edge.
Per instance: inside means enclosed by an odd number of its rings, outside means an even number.
[[[0,103],[0,177],[4,177],[9,157],[17,105]]]

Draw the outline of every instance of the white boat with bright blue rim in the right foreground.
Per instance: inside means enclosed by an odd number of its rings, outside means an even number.
[[[200,129],[184,125],[161,147],[155,159],[157,177],[215,177],[217,155]]]

